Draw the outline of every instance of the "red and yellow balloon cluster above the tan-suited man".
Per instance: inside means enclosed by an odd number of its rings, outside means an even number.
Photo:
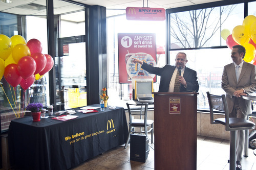
[[[251,62],[256,59],[256,17],[248,15],[243,20],[242,26],[236,26],[232,30],[232,34],[228,29],[221,31],[221,37],[226,40],[227,46],[232,49],[234,45],[243,45],[246,53],[244,61]],[[256,65],[256,61],[253,62]]]

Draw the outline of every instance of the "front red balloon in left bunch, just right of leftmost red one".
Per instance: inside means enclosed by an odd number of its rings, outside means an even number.
[[[30,56],[25,56],[18,61],[18,72],[23,79],[32,76],[36,69],[35,60]]]

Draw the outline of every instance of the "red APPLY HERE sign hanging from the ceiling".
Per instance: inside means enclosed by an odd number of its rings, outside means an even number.
[[[164,8],[127,7],[126,19],[127,20],[151,20],[151,21],[165,20],[165,9]]]

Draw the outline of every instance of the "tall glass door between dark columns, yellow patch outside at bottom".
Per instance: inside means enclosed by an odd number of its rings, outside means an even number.
[[[84,9],[60,15],[58,57],[55,57],[56,96],[60,109],[87,105],[84,20]]]

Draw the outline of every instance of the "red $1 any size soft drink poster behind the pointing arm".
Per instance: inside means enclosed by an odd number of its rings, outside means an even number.
[[[133,63],[137,58],[156,66],[156,34],[153,33],[118,33],[119,83],[131,83],[132,79],[153,79],[156,75]]]

